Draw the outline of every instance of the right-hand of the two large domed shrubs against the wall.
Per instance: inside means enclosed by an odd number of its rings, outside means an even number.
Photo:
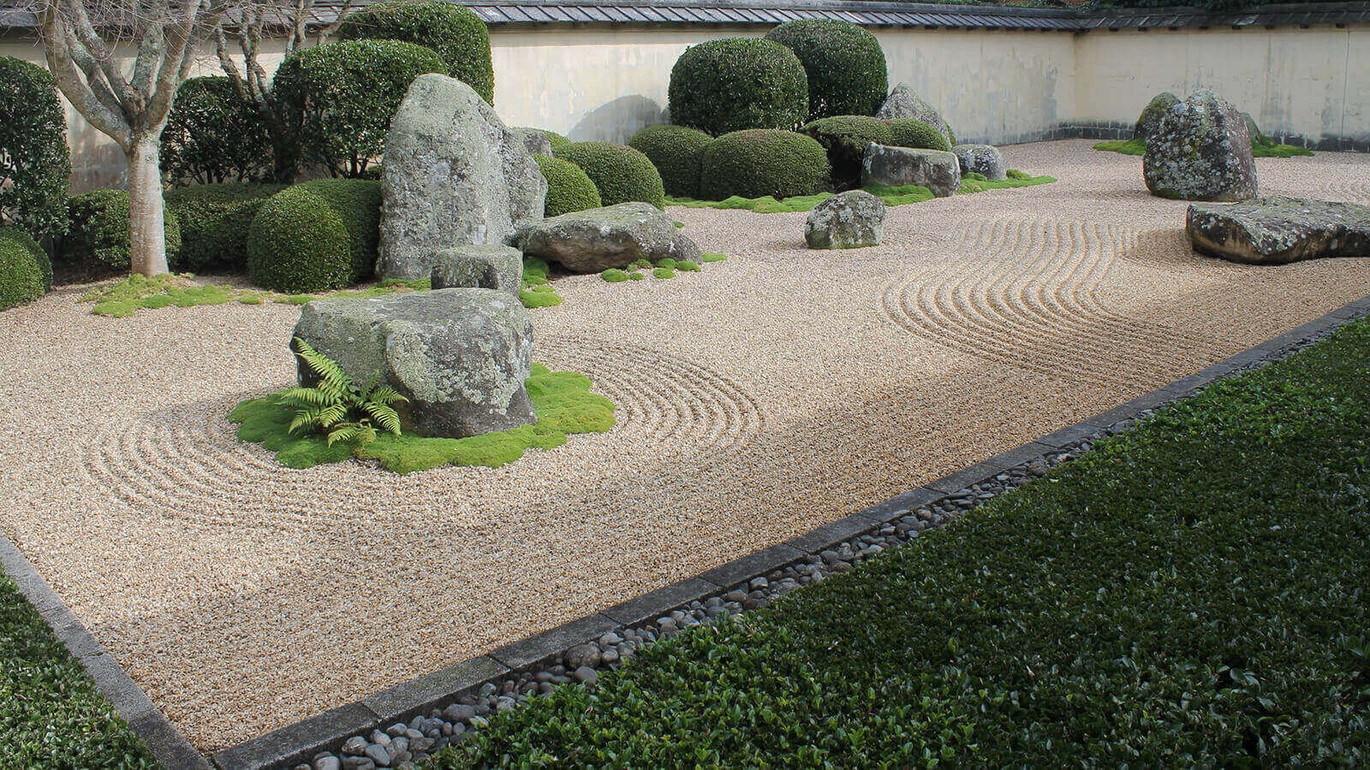
[[[795,52],[808,77],[808,119],[874,115],[885,101],[885,52],[870,32],[837,19],[785,22],[766,33]]]

